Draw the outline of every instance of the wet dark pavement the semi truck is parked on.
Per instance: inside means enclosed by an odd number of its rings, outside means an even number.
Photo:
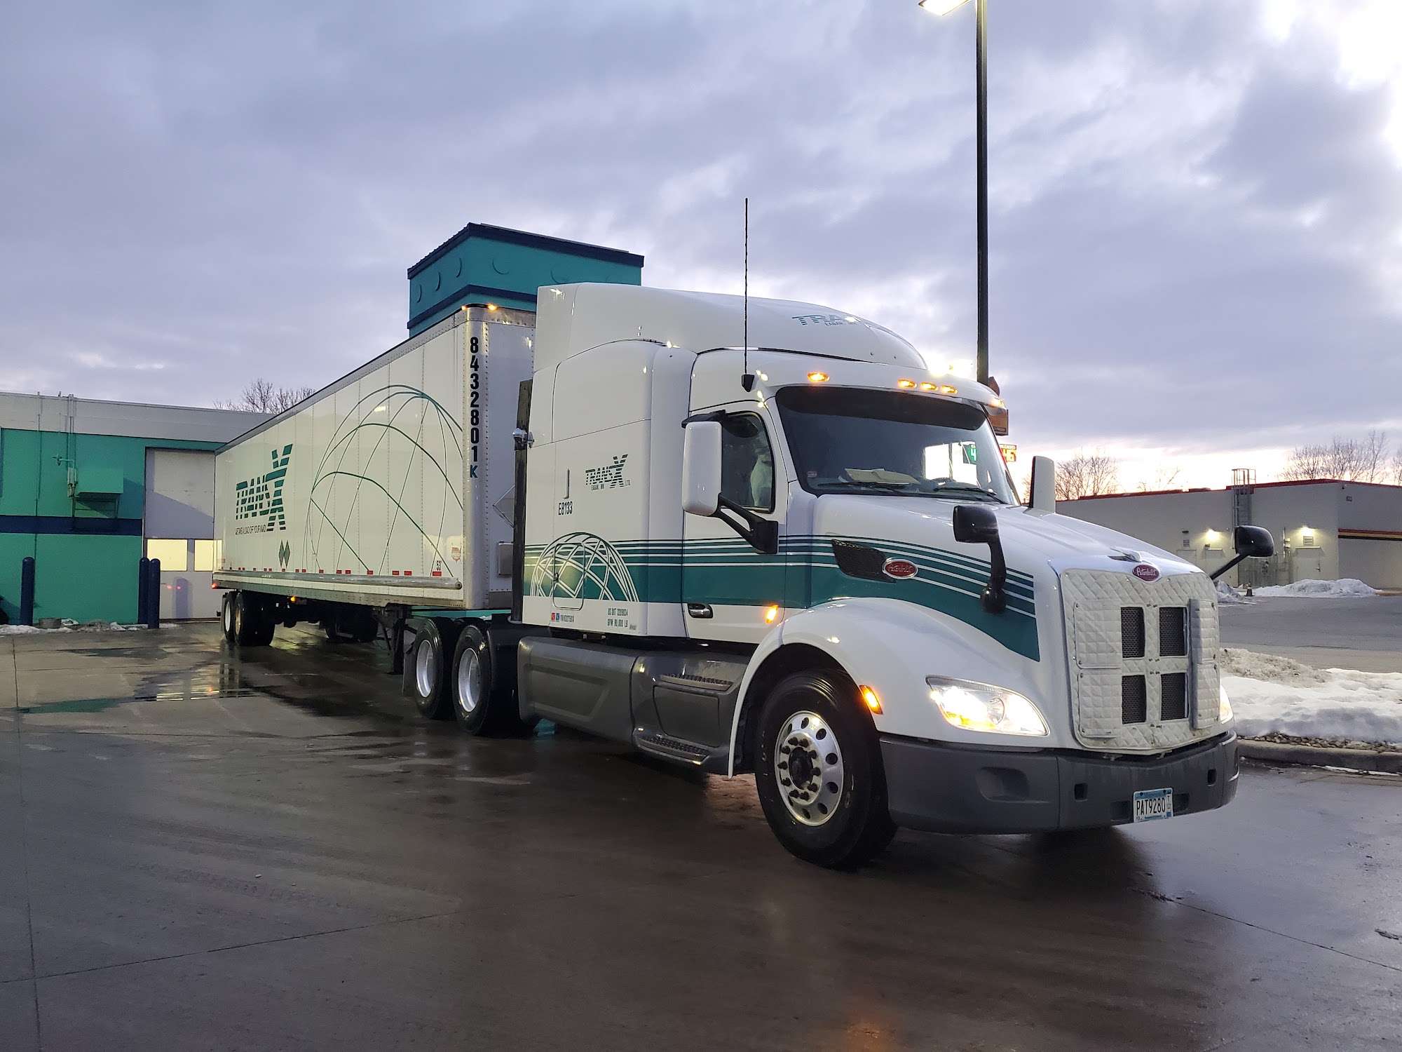
[[[834,874],[749,778],[425,727],[384,665],[0,641],[0,1049],[1402,1045],[1402,778]]]

